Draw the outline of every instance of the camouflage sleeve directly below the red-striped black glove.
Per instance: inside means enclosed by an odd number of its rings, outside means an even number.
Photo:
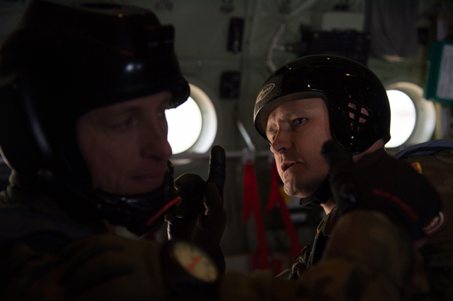
[[[342,216],[321,261],[299,281],[307,300],[428,300],[410,237],[377,211]]]

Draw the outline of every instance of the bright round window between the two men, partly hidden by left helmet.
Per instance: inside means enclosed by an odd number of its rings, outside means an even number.
[[[196,85],[189,85],[189,99],[165,112],[173,155],[185,151],[206,153],[217,134],[217,114],[212,101]]]

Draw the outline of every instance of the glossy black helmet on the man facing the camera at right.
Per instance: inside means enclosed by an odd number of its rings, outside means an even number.
[[[380,138],[390,140],[389,98],[379,78],[366,66],[333,55],[295,59],[269,76],[255,104],[260,135],[266,138],[275,108],[306,98],[326,102],[332,137],[350,153],[363,153]]]

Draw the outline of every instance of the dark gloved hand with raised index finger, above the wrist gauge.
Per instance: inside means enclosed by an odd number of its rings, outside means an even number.
[[[175,189],[183,201],[165,217],[169,240],[189,240],[214,255],[226,225],[225,172],[225,151],[213,146],[206,182],[194,174],[181,175],[175,180]]]

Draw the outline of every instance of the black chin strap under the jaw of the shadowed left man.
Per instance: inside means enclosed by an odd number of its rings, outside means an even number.
[[[59,203],[77,220],[86,222],[90,217],[102,218],[137,235],[143,235],[159,225],[166,212],[173,209],[174,205],[167,204],[176,196],[170,161],[161,186],[145,194],[117,195],[101,190],[84,191],[51,174],[42,174],[40,178],[47,184],[50,196],[60,200]],[[153,219],[150,221],[150,218]]]

